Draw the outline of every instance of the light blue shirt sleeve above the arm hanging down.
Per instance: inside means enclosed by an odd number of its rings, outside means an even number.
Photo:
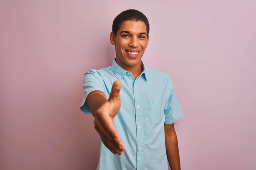
[[[168,76],[168,85],[167,85],[167,96],[168,96],[168,100],[164,109],[164,114],[165,114],[164,123],[172,124],[177,122],[183,116],[183,113],[181,111],[177,94],[172,84],[172,79],[169,76]]]

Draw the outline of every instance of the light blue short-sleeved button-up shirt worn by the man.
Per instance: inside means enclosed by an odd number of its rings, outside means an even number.
[[[89,70],[84,75],[84,99],[81,111],[89,114],[87,95],[103,91],[109,98],[113,82],[121,81],[121,109],[114,126],[125,145],[121,156],[114,155],[100,137],[100,158],[97,170],[168,170],[164,124],[182,117],[180,105],[170,76],[143,66],[134,79],[131,72],[116,60],[108,68]]]

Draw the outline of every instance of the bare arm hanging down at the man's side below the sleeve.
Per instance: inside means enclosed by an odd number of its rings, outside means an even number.
[[[164,124],[166,154],[171,170],[180,170],[180,154],[174,124]]]

